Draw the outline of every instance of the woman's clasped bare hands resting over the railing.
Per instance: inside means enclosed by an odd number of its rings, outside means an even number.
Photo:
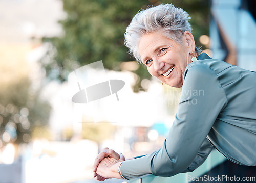
[[[125,161],[125,158],[122,153],[118,154],[112,149],[104,148],[94,161],[94,177],[98,181],[104,181],[109,178],[121,179],[118,168],[123,161]]]

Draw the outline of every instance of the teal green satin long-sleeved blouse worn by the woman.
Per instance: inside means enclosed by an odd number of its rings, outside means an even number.
[[[235,163],[256,166],[256,73],[205,53],[197,59],[185,69],[179,108],[163,147],[124,161],[124,178],[193,171],[214,147]]]

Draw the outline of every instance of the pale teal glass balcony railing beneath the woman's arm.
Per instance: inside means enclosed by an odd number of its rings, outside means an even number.
[[[154,175],[145,175],[140,178],[135,178],[129,183],[188,183],[189,177],[200,177],[212,168],[227,160],[219,151],[213,150],[205,162],[193,172],[180,173],[172,177],[159,177]]]

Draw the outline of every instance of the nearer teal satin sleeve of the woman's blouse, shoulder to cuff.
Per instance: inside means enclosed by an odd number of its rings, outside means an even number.
[[[193,165],[227,99],[218,75],[204,63],[191,63],[183,78],[179,108],[162,148],[141,158],[124,161],[120,167],[124,178],[145,174],[169,177]]]

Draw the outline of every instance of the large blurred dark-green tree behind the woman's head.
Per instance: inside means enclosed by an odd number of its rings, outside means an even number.
[[[48,53],[42,59],[42,65],[50,79],[65,81],[68,73],[74,69],[99,60],[104,67],[119,71],[121,62],[133,61],[124,46],[124,32],[133,16],[148,6],[161,3],[157,0],[83,0],[63,1],[66,18],[59,21],[63,35],[44,38],[50,42]],[[186,10],[190,16],[197,45],[199,36],[208,34],[208,1],[174,0],[173,4]],[[134,86],[137,92],[142,79],[150,78],[146,67],[140,64],[134,71],[139,80]]]

